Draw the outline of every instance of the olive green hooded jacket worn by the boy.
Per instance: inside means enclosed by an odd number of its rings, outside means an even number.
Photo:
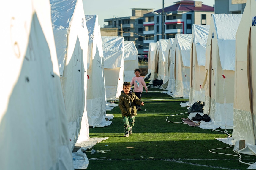
[[[133,91],[130,91],[130,95],[127,95],[122,91],[119,96],[118,106],[122,112],[122,116],[136,116],[136,104],[141,105],[141,103],[142,101],[133,93]]]

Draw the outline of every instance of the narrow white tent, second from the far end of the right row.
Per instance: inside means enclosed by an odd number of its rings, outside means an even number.
[[[150,62],[151,65],[151,74],[150,74],[150,78],[148,80],[150,80],[149,84],[153,83],[153,80],[157,79],[157,72],[158,72],[158,54],[159,54],[159,41],[156,42],[156,46],[154,49],[154,56],[151,57],[151,59],[149,58],[148,62]]]

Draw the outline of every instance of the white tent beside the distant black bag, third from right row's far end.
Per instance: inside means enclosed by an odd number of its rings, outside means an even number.
[[[166,52],[168,40],[159,40],[159,56],[158,56],[158,80],[163,80],[163,83],[161,85],[162,88],[166,88],[168,85],[169,77],[168,75],[168,53]]]

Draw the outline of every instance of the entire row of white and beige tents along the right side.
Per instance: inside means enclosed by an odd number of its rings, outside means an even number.
[[[256,155],[251,38],[255,7],[256,2],[248,0],[243,15],[212,14],[211,24],[193,25],[192,34],[150,43],[145,77],[150,83],[162,79],[162,88],[172,97],[189,97],[187,106],[205,102],[203,114],[211,121],[200,127],[233,129],[233,143],[246,141],[240,152]]]

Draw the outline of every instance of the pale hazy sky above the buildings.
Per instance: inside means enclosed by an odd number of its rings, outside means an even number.
[[[83,9],[85,15],[98,15],[98,21],[100,27],[104,22],[104,19],[114,17],[128,17],[132,16],[131,8],[151,8],[154,11],[162,9],[163,0],[82,0]],[[180,0],[164,0],[164,7],[174,5],[173,2]],[[197,0],[202,1],[204,5],[213,6],[214,0]]]

